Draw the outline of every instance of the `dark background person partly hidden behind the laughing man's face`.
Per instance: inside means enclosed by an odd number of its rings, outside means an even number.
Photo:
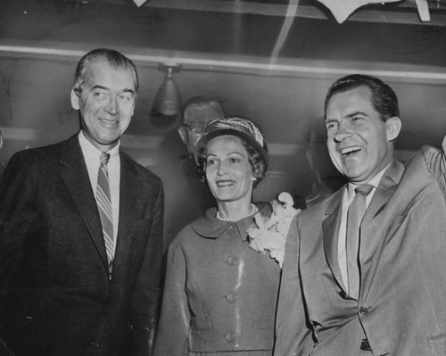
[[[336,170],[335,165],[330,160],[326,147],[326,122],[324,117],[314,120],[309,134],[306,156],[313,172],[313,185],[311,186],[311,194],[305,196],[307,207],[322,202],[346,183],[346,179],[339,170]]]

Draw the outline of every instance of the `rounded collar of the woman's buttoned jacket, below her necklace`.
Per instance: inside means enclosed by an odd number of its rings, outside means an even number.
[[[269,203],[256,203],[255,205],[262,216],[269,217],[271,215],[272,208]],[[192,223],[194,231],[202,237],[215,239],[223,234],[229,226],[235,225],[242,239],[246,240],[246,231],[253,223],[252,216],[232,222],[217,219],[216,213],[217,208],[208,209],[201,218]]]

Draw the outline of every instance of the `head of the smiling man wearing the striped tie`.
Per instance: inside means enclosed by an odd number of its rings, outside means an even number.
[[[71,106],[87,140],[100,151],[117,145],[128,128],[138,87],[135,64],[115,50],[95,49],[78,62]]]

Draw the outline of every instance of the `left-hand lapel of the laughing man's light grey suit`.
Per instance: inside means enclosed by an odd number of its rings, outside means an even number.
[[[322,234],[328,266],[330,267],[338,285],[341,286],[346,292],[338,261],[339,228],[341,225],[341,214],[343,211],[342,203],[344,190],[345,187],[339,189],[335,195],[332,196],[330,203],[328,203],[326,207],[326,219],[324,219],[322,222]]]

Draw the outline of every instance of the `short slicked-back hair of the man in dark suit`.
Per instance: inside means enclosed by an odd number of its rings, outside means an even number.
[[[135,75],[135,90],[137,93],[139,88],[139,79],[135,63],[130,61],[124,54],[120,54],[120,52],[118,51],[106,48],[94,49],[93,51],[85,54],[80,59],[74,72],[73,89],[75,91],[80,91],[80,87],[85,82],[88,66],[91,65],[93,62],[98,61],[107,62],[109,65],[111,65],[111,67],[115,69],[132,70]]]

